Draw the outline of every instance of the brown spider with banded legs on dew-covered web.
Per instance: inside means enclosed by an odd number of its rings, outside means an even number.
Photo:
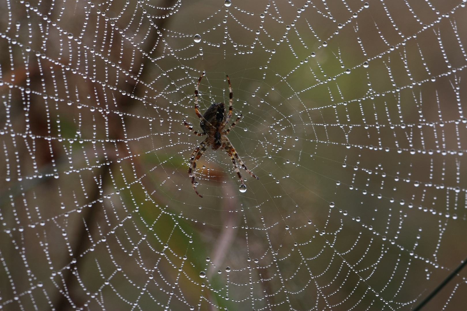
[[[195,190],[196,194],[198,194],[202,198],[203,196],[198,193],[198,190],[196,190],[196,186],[198,185],[198,182],[195,181],[196,162],[203,155],[206,149],[209,146],[211,146],[212,150],[217,150],[219,148],[222,148],[227,152],[230,159],[232,159],[233,167],[235,168],[238,178],[241,181],[240,191],[245,192],[247,190],[247,186],[245,186],[245,184],[243,183],[243,180],[241,179],[241,174],[240,174],[238,165],[243,167],[245,171],[247,171],[251,176],[255,177],[256,179],[259,179],[259,178],[256,177],[255,174],[251,173],[250,170],[248,170],[247,166],[245,166],[245,163],[243,163],[240,156],[235,151],[235,148],[233,148],[233,145],[230,142],[229,138],[227,138],[228,132],[233,128],[233,126],[235,126],[235,124],[237,124],[238,120],[240,120],[241,118],[241,115],[226,130],[224,129],[224,127],[228,124],[230,117],[232,116],[233,93],[232,93],[232,86],[230,85],[229,76],[227,76],[227,82],[229,83],[229,91],[230,91],[229,112],[226,114],[224,103],[213,103],[211,104],[211,106],[209,106],[209,108],[205,111],[205,113],[201,115],[199,113],[199,108],[198,108],[198,87],[204,75],[205,75],[205,72],[203,72],[201,76],[199,77],[198,84],[196,85],[196,88],[195,88],[195,112],[196,112],[196,115],[200,119],[199,126],[201,127],[203,132],[200,133],[200,132],[193,130],[193,126],[184,121],[185,126],[190,131],[195,133],[196,135],[198,136],[207,135],[207,138],[203,140],[199,144],[199,146],[195,148],[195,150],[193,150],[190,156],[190,166],[188,168],[188,175],[191,177],[191,184],[193,185],[193,189]]]

